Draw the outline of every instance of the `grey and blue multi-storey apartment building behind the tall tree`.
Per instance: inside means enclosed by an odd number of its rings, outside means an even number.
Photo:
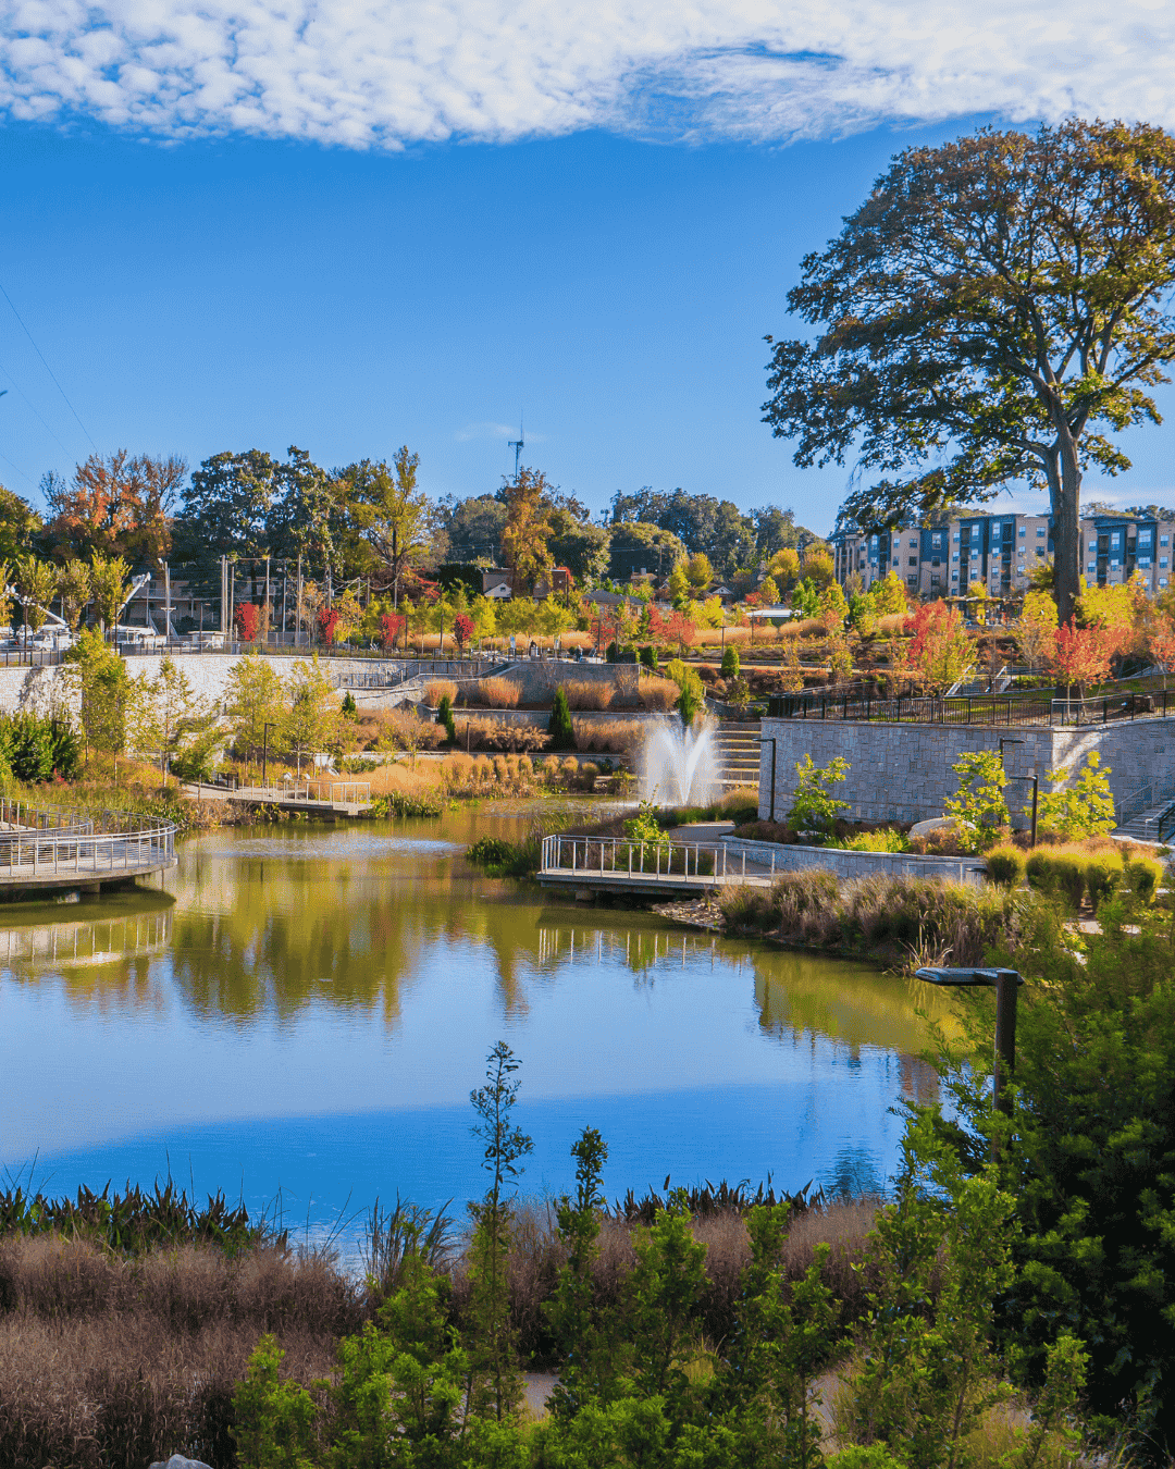
[[[912,596],[961,596],[974,583],[990,596],[1019,596],[1028,574],[1053,557],[1050,516],[966,516],[941,526],[831,538],[836,576],[865,589],[896,571]],[[1121,586],[1141,571],[1152,596],[1171,585],[1175,523],[1093,514],[1081,520],[1081,571],[1090,585]]]

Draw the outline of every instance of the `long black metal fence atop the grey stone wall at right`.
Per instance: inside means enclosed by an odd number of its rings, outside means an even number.
[[[1163,718],[1175,714],[1175,690],[1116,693],[1100,699],[1030,699],[961,695],[955,699],[893,698],[824,693],[778,693],[767,701],[777,720],[849,720],[865,724],[990,724],[1044,729],[1113,724],[1119,720]]]

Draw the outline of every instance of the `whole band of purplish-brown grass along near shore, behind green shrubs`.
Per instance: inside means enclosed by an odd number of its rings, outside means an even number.
[[[774,1199],[774,1196],[770,1196]],[[730,1334],[740,1278],[751,1260],[740,1190],[699,1190],[692,1237],[705,1249],[701,1322],[709,1340]],[[242,1250],[172,1238],[134,1252],[75,1231],[72,1202],[59,1202],[59,1228],[0,1232],[0,1463],[4,1469],[144,1469],[173,1451],[216,1469],[241,1463],[234,1440],[234,1391],[263,1334],[285,1351],[282,1375],[314,1397],[323,1438],[333,1432],[328,1385],[341,1379],[339,1343],[379,1318],[400,1287],[413,1210],[376,1213],[367,1232],[366,1278],[325,1253],[258,1237]],[[113,1200],[119,1209],[120,1200]],[[626,1200],[604,1216],[592,1285],[602,1309],[620,1307],[637,1263],[636,1231],[652,1197]],[[197,1210],[198,1213],[198,1210]],[[859,1315],[868,1278],[853,1269],[865,1253],[875,1205],[831,1203],[802,1210],[787,1240],[789,1278],[800,1279],[828,1246],[821,1271]],[[470,1259],[451,1227],[433,1238],[449,1327],[474,1329]],[[568,1257],[554,1208],[523,1202],[508,1259],[510,1327],[526,1366],[551,1366],[555,1344],[546,1307]],[[316,1387],[314,1384],[320,1384]],[[278,1460],[275,1460],[276,1463]],[[391,1460],[389,1460],[391,1462]]]

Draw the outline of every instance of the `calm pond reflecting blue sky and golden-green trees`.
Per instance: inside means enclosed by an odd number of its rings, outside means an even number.
[[[529,820],[231,829],[182,842],[156,889],[7,909],[0,1169],[53,1193],[170,1171],[313,1237],[376,1196],[460,1206],[501,1039],[524,1193],[570,1185],[585,1125],[612,1197],[667,1175],[883,1187],[899,1097],[934,1089],[915,1008],[941,996],[466,862]]]

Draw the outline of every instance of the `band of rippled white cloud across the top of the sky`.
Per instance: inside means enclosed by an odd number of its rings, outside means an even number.
[[[0,0],[0,109],[344,147],[1175,122],[1168,0]]]

